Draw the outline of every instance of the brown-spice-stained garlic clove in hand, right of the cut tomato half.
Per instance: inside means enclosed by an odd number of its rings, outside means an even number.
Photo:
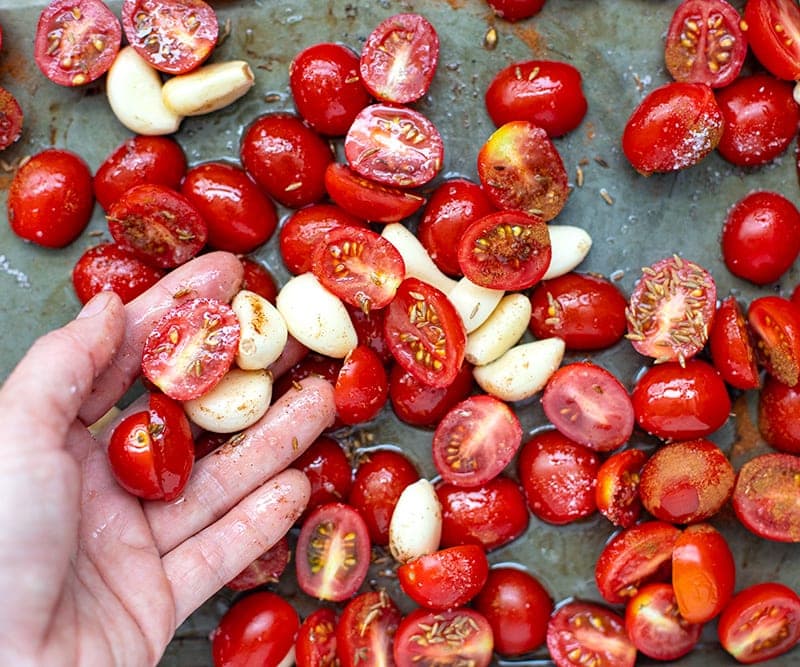
[[[283,315],[263,296],[249,290],[233,297],[231,308],[241,329],[236,365],[245,370],[266,368],[286,346],[289,330]]]

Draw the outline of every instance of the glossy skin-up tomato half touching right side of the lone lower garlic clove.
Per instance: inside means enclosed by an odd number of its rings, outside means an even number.
[[[439,484],[442,506],[441,545],[480,544],[486,551],[517,539],[528,527],[522,488],[500,475],[480,486]]]

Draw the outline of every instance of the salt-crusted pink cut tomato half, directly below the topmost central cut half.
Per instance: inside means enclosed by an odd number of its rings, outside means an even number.
[[[444,144],[436,126],[418,111],[370,104],[347,131],[344,154],[357,174],[407,188],[424,185],[439,173]]]

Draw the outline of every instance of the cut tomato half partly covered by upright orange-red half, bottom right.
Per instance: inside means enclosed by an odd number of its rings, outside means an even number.
[[[667,583],[647,584],[625,606],[625,630],[638,651],[655,660],[677,660],[700,639],[702,623],[689,623],[678,611]]]

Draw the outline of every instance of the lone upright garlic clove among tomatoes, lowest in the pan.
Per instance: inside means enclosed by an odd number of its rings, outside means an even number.
[[[409,484],[389,521],[389,551],[399,563],[433,553],[442,537],[442,506],[427,479]]]

